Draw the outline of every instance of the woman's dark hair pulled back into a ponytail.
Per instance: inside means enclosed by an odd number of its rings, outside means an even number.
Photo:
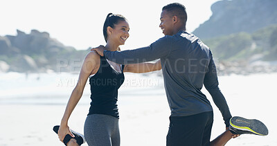
[[[107,37],[108,37],[107,27],[109,26],[111,28],[114,28],[114,25],[118,24],[120,21],[127,21],[127,19],[125,19],[125,17],[123,17],[123,15],[116,15],[113,13],[109,13],[107,15],[104,26],[103,26],[103,35],[104,35],[106,42],[107,42]]]

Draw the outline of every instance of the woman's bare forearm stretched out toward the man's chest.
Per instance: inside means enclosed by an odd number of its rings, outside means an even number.
[[[158,60],[155,63],[147,62],[141,64],[127,64],[125,65],[123,71],[130,73],[148,73],[159,70],[161,70],[161,60]]]

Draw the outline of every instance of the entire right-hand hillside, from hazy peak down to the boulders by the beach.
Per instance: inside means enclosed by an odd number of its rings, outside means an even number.
[[[220,74],[277,71],[277,1],[223,0],[195,29],[213,51]]]

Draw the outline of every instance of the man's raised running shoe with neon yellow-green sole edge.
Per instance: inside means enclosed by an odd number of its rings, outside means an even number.
[[[259,136],[267,136],[268,129],[264,123],[256,119],[246,119],[234,116],[230,120],[229,130],[233,134],[256,134]]]

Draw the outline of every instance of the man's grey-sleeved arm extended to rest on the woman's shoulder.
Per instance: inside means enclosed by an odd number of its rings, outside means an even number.
[[[127,51],[104,51],[104,56],[117,64],[138,64],[150,62],[161,57],[166,57],[171,51],[172,37],[165,36],[152,43],[150,46]],[[97,50],[97,48],[93,48]],[[100,53],[101,55],[101,53]]]

